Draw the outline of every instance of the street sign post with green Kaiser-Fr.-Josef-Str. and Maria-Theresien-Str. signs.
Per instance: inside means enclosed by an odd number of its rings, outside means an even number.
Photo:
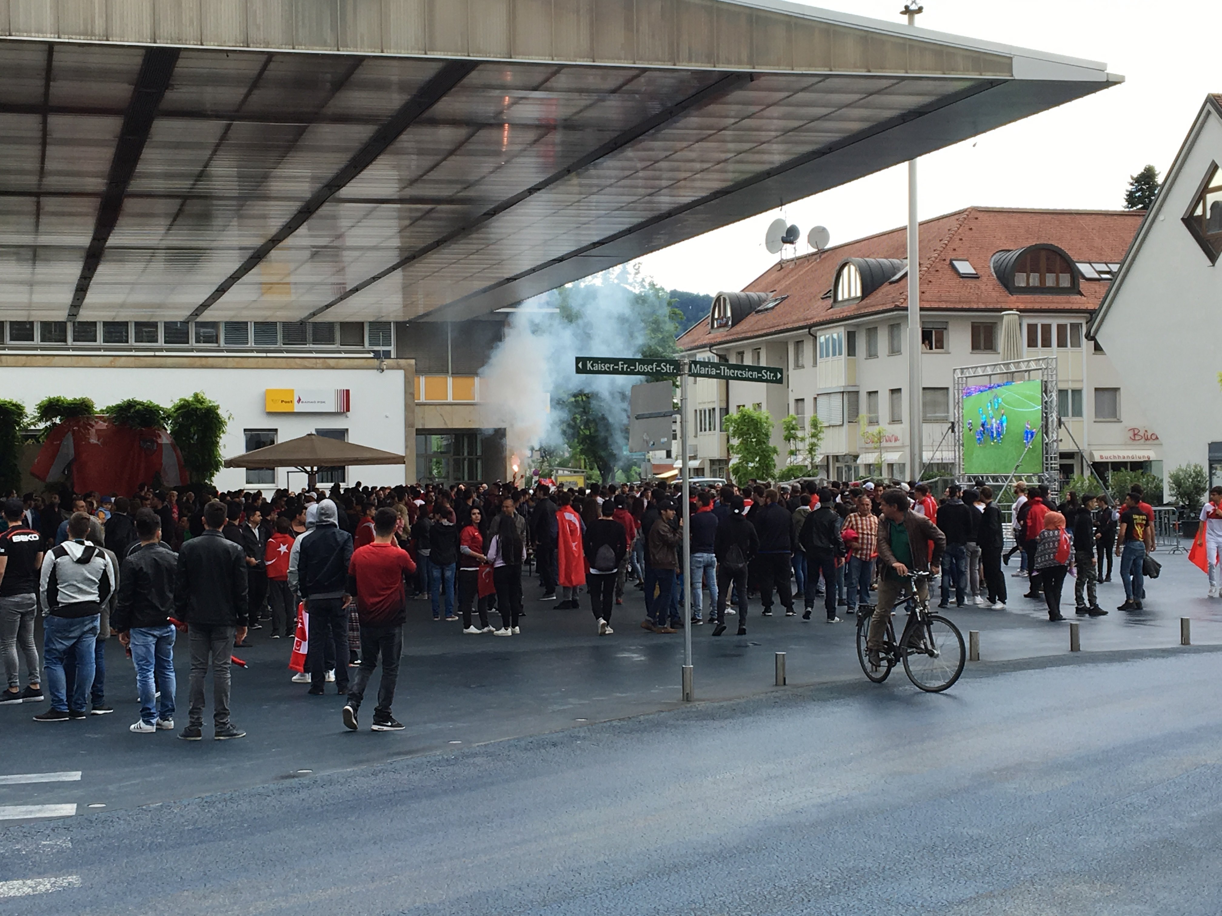
[[[692,471],[688,468],[688,423],[687,423],[687,386],[688,376],[697,379],[726,379],[730,381],[765,382],[783,385],[785,370],[771,365],[745,365],[743,363],[714,363],[698,359],[645,359],[642,357],[577,357],[578,375],[677,375],[679,379],[679,464],[683,480],[683,556],[692,556]],[[662,382],[665,383],[665,382]],[[644,407],[638,398],[653,386],[633,387],[632,416],[638,420],[659,420],[668,423],[671,412],[638,410]],[[642,391],[638,392],[638,388]],[[646,533],[648,534],[648,533]],[[683,700],[694,699],[692,680],[692,576],[683,576]]]

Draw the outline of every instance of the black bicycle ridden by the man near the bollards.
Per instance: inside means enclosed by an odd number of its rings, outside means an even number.
[[[881,684],[891,675],[891,669],[901,661],[908,679],[931,694],[946,690],[963,673],[967,651],[963,647],[963,634],[959,628],[941,614],[929,612],[929,598],[921,600],[916,592],[916,580],[929,579],[930,574],[913,570],[908,574],[908,589],[896,600],[896,606],[908,601],[908,622],[903,635],[896,640],[896,628],[891,617],[887,618],[887,633],[882,649],[879,651],[877,664],[870,661],[865,639],[870,630],[870,612],[859,611],[857,616],[857,658],[862,663],[865,677],[875,684]]]

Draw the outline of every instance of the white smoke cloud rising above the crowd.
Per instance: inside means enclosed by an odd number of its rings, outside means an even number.
[[[506,446],[523,473],[536,446],[562,446],[562,410],[568,394],[587,391],[604,415],[612,442],[623,445],[628,394],[640,379],[577,375],[577,357],[640,355],[648,321],[665,314],[665,293],[620,267],[523,302],[480,373],[488,426],[503,426]]]

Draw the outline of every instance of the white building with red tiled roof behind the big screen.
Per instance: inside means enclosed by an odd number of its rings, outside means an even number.
[[[949,474],[957,460],[953,370],[1000,359],[1002,325],[1018,322],[1018,358],[1055,357],[1059,471],[1068,481],[1113,469],[1162,476],[1162,443],[1149,408],[1128,397],[1086,325],[1119,266],[1140,214],[973,208],[921,226],[921,442],[925,473]],[[722,293],[706,324],[681,346],[694,358],[781,366],[786,385],[698,380],[693,423],[700,470],[727,467],[721,420],[761,407],[776,421],[778,464],[791,457],[781,418],[825,426],[820,473],[910,479],[907,265],[903,231],[785,263],[744,293]],[[1009,258],[1004,255],[1009,254]],[[1037,277],[1037,280],[1036,280]],[[1036,285],[1037,283],[1037,285]],[[783,471],[782,471],[783,476]]]

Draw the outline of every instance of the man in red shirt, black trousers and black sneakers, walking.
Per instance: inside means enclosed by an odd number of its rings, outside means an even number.
[[[357,729],[360,701],[380,653],[382,674],[370,728],[374,732],[400,732],[403,725],[391,716],[390,707],[395,700],[398,657],[403,653],[403,623],[407,620],[403,579],[415,575],[415,563],[407,551],[395,543],[395,528],[398,525],[395,509],[378,509],[373,523],[373,542],[357,547],[348,563],[348,594],[356,596],[357,617],[360,619],[360,667],[348,690],[343,724]]]

